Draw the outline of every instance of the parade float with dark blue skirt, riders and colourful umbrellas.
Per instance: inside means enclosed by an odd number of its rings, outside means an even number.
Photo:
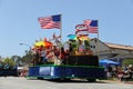
[[[54,18],[57,16],[52,16],[52,20]],[[45,18],[41,19],[43,20]],[[90,38],[84,29],[88,29],[85,24],[78,24],[75,34],[69,34],[69,40],[64,43],[61,42],[61,36],[55,33],[52,40],[44,38],[37,41],[32,49],[35,53],[28,77],[60,80],[79,78],[89,81],[104,79],[104,68],[99,66],[99,56],[94,56],[90,49]],[[39,51],[42,50],[45,51],[44,60],[39,57]]]

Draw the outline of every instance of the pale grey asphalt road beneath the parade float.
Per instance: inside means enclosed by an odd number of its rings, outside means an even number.
[[[85,80],[72,80],[59,82],[29,80],[21,77],[0,77],[0,89],[133,89],[133,85],[114,81],[86,82]]]

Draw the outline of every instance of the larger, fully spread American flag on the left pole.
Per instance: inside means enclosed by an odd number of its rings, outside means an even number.
[[[40,17],[38,20],[42,29],[61,29],[61,14]]]

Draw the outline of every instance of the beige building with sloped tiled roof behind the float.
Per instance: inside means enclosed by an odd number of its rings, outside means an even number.
[[[127,59],[133,58],[133,47],[116,44],[110,42],[102,42],[94,38],[90,41],[91,50],[98,55],[100,59]]]

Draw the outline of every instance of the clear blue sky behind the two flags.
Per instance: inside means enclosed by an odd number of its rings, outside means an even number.
[[[99,20],[101,41],[133,46],[133,0],[0,0],[0,56],[24,56],[35,40],[59,34],[59,29],[44,30],[38,22],[53,14],[62,14],[63,41],[91,19]]]

